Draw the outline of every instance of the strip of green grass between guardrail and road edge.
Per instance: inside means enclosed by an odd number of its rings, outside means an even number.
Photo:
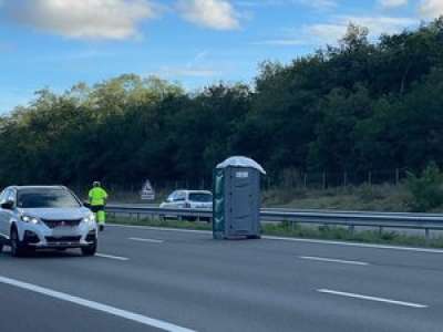
[[[158,218],[135,218],[113,217],[109,218],[110,224],[151,226],[176,229],[212,230],[208,222],[186,221],[186,220],[162,220]],[[265,224],[261,226],[262,235],[279,236],[302,239],[339,240],[361,243],[379,243],[392,246],[411,246],[443,248],[443,237],[432,238],[426,243],[424,236],[405,235],[396,231],[379,230],[350,230],[344,227],[330,226],[303,226],[300,224],[281,222]]]

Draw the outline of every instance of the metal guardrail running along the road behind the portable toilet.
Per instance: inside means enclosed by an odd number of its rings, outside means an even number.
[[[169,209],[137,205],[109,205],[107,212],[114,215],[147,217],[193,217],[196,219],[210,219],[212,210],[203,209]],[[443,215],[437,214],[391,214],[391,212],[360,212],[360,211],[321,211],[321,210],[291,210],[291,209],[261,209],[261,222],[291,222],[311,225],[373,227],[382,231],[384,228],[419,229],[425,231],[430,239],[431,230],[443,230]]]

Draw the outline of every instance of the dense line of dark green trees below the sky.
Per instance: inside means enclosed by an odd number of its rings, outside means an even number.
[[[443,164],[443,18],[371,42],[350,25],[337,46],[265,62],[253,86],[186,93],[122,75],[37,92],[0,118],[0,184],[210,178],[230,155],[285,169]]]

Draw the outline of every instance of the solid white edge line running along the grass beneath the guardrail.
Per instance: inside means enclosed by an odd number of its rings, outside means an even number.
[[[151,227],[151,226],[133,226],[133,225],[119,225],[119,224],[113,224],[113,225],[107,224],[107,226],[122,227],[122,228],[138,228],[138,229],[147,229],[147,230],[159,230],[159,231],[195,232],[195,234],[205,234],[205,235],[213,234],[210,230],[162,228],[162,227]],[[264,236],[261,238],[265,240],[292,241],[292,242],[303,242],[303,243],[332,245],[332,246],[343,246],[343,247],[359,247],[359,248],[387,249],[387,250],[400,250],[400,251],[414,251],[414,252],[425,252],[425,253],[443,253],[442,249],[427,249],[427,248],[416,248],[416,247],[340,242],[340,241],[329,241],[329,240],[298,239],[298,238],[285,238],[285,237],[272,237],[272,236]]]

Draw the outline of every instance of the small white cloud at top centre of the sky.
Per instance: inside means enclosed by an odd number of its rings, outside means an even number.
[[[215,30],[234,30],[240,27],[238,13],[227,0],[178,0],[181,15],[197,25]]]

